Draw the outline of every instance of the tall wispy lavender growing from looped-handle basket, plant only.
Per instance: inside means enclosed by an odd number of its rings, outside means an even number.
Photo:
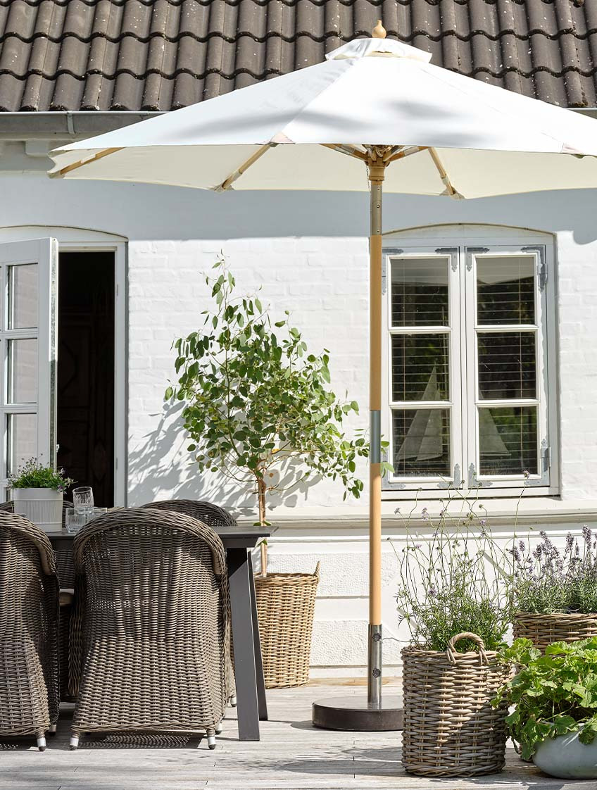
[[[452,489],[437,523],[423,508],[422,521],[430,528],[425,538],[412,534],[415,509],[416,504],[403,517],[400,623],[407,623],[411,640],[424,649],[443,651],[464,631],[496,649],[513,617],[513,558],[492,538],[485,508]],[[474,644],[463,640],[456,649],[464,653]]]

